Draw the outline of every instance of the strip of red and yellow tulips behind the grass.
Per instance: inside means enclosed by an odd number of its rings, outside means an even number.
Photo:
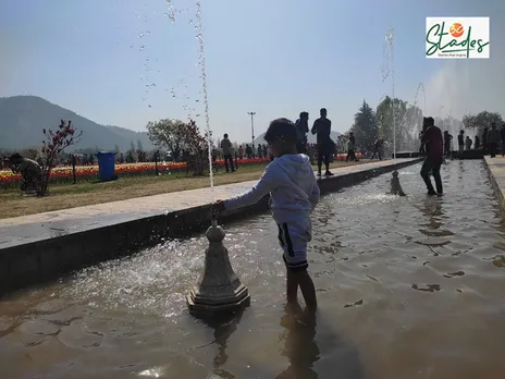
[[[238,159],[238,168],[241,166],[251,166],[269,162],[269,158],[255,158],[255,159]],[[217,167],[221,169],[224,167],[223,160],[215,162]],[[158,171],[164,173],[180,173],[185,174],[187,171],[186,162],[158,162]],[[146,163],[116,163],[115,174],[118,176],[140,176],[140,175],[155,175],[156,167],[153,162]],[[79,181],[95,181],[98,180],[98,166],[76,166],[75,176]],[[66,184],[73,183],[72,167],[57,167],[51,171],[50,184]],[[0,170],[0,188],[17,188],[21,184],[21,175],[14,174],[12,171]]]

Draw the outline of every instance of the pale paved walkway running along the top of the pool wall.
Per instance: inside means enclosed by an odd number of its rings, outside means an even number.
[[[407,162],[416,159],[397,159]],[[377,161],[334,169],[335,176],[369,171],[395,164],[393,160]],[[215,199],[227,199],[249,190],[257,181],[214,187]],[[124,190],[127,191],[127,190]],[[210,188],[190,190],[127,200],[62,209],[38,215],[0,219],[0,249],[47,240],[50,237],[84,232],[140,218],[159,216],[187,208],[200,207],[213,200]]]

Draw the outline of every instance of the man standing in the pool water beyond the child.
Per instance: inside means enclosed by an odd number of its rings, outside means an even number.
[[[443,193],[440,168],[444,160],[444,140],[442,137],[442,131],[435,126],[433,118],[426,118],[423,127],[426,127],[426,130],[422,134],[421,143],[427,146],[427,157],[424,159],[424,163],[422,163],[421,178],[427,185],[428,195],[431,196],[439,194],[440,196]],[[433,184],[431,184],[430,171],[435,180],[436,192],[433,188]]]

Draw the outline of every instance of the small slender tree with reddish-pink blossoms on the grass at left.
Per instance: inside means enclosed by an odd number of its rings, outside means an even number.
[[[41,157],[41,169],[42,169],[42,183],[39,192],[40,196],[46,195],[49,178],[51,170],[58,163],[60,155],[65,148],[74,145],[78,142],[83,132],[75,135],[75,129],[72,126],[72,121],[65,122],[61,120],[60,126],[56,132],[51,130],[42,130],[46,140],[42,140],[42,157]]]

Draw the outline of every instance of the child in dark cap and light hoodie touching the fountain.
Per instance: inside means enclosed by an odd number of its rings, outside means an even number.
[[[264,135],[275,159],[250,191],[225,201],[215,211],[232,210],[258,203],[270,193],[272,216],[279,227],[279,241],[286,265],[286,297],[297,304],[298,285],[307,310],[317,309],[316,289],[307,272],[307,244],[311,240],[310,213],[319,201],[319,186],[306,155],[297,154],[295,124],[287,119],[270,123]]]

